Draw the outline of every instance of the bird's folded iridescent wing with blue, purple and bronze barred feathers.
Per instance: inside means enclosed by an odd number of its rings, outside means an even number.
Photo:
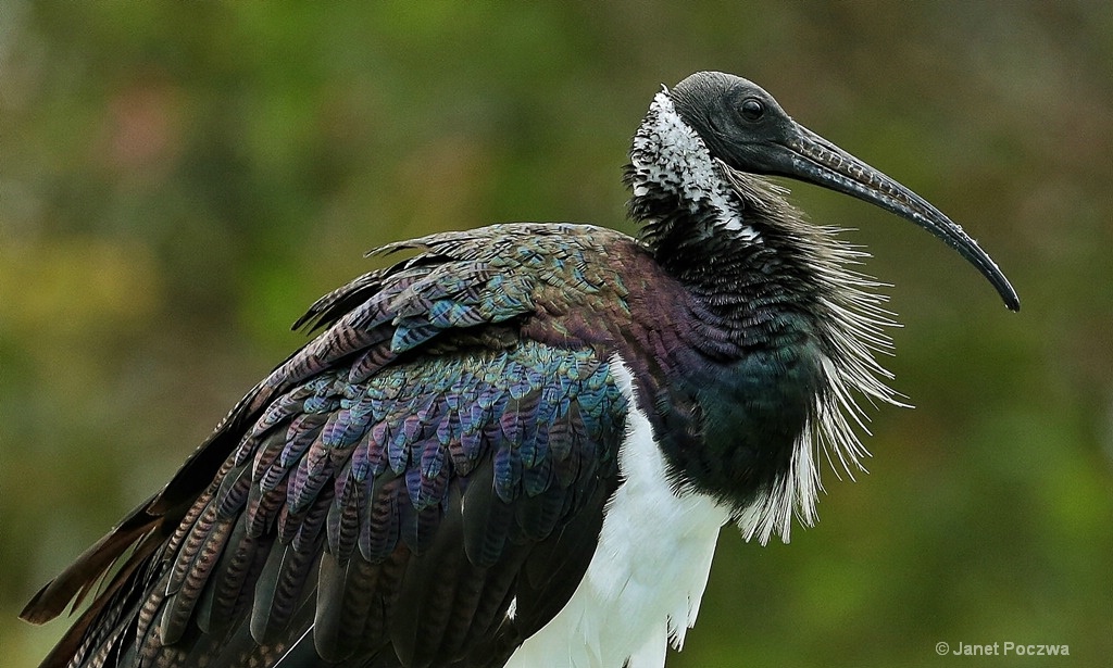
[[[618,485],[617,232],[387,247],[323,331],[23,611],[112,571],[43,666],[501,665],[567,602]],[[523,331],[529,331],[529,337]]]

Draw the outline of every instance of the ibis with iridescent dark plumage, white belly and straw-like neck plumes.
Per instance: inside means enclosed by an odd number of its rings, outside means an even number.
[[[636,236],[442,232],[313,303],[313,338],[27,605],[91,598],[42,666],[663,666],[720,529],[812,525],[823,460],[861,469],[861,402],[902,403],[884,286],[784,178],[926,229],[1020,309],[927,200],[697,72],[633,134]]]

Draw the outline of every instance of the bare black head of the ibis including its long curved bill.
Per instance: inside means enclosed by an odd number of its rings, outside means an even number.
[[[728,176],[788,177],[854,196],[923,227],[966,258],[1020,309],[997,265],[958,225],[893,178],[808,130],[761,87],[722,72],[697,72],[668,91],[680,119]],[[745,178],[745,177],[742,177]]]

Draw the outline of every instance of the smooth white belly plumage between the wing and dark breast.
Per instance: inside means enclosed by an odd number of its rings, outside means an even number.
[[[510,668],[661,667],[669,640],[679,648],[696,622],[728,512],[710,497],[673,493],[633,377],[617,355],[610,367],[630,407],[619,450],[623,481],[583,581]]]

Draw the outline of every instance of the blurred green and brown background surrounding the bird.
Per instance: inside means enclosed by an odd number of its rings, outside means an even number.
[[[363,250],[509,220],[623,220],[661,83],[765,86],[965,225],[944,245],[811,187],[895,287],[871,475],[826,471],[791,545],[720,541],[695,666],[1113,656],[1113,9],[1063,2],[0,2],[0,647],[304,338]]]

